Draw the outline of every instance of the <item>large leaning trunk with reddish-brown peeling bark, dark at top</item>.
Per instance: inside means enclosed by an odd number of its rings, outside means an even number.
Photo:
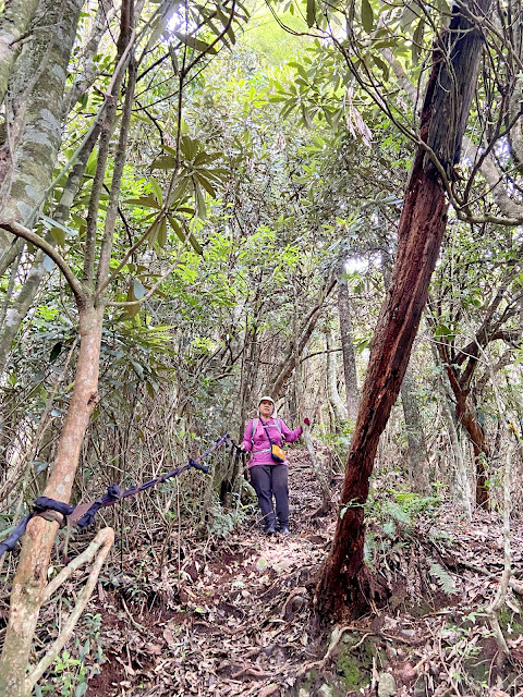
[[[490,0],[479,0],[476,14],[487,12]],[[421,139],[438,158],[447,178],[452,176],[459,161],[482,47],[481,32],[454,5],[450,26],[435,49],[419,130]],[[324,616],[354,616],[368,607],[362,592],[364,504],[379,436],[409,364],[447,224],[448,203],[438,167],[426,147],[419,146],[405,192],[391,285],[375,330],[346,464],[341,503],[348,508],[338,519],[331,553],[318,580],[318,610]]]

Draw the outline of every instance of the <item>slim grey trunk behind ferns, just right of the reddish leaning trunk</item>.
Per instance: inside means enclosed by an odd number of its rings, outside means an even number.
[[[409,364],[401,383],[401,404],[408,438],[409,477],[414,491],[427,493],[429,487],[427,445],[415,389],[416,383]]]

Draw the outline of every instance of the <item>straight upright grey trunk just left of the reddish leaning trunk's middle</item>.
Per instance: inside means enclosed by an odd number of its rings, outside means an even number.
[[[338,267],[338,311],[340,314],[341,352],[343,372],[345,376],[346,412],[349,419],[355,424],[360,393],[357,391],[356,354],[352,338],[352,306],[349,285],[344,273],[344,259]]]

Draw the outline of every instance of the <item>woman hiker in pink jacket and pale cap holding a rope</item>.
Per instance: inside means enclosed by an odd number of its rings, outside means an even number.
[[[311,424],[308,418],[304,419],[304,423],[307,426]],[[276,404],[270,396],[259,400],[258,418],[248,421],[245,428],[240,448],[253,453],[248,463],[251,481],[258,497],[267,535],[273,535],[277,530],[281,535],[289,535],[289,463],[281,445],[283,439],[293,443],[302,432],[301,426],[291,431],[289,426],[277,417]],[[276,499],[276,516],[272,494]]]

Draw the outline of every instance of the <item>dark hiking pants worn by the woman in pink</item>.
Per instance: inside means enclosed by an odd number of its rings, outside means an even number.
[[[251,481],[258,497],[265,529],[276,525],[289,526],[289,467],[287,465],[254,465]],[[276,499],[276,516],[272,508]]]

